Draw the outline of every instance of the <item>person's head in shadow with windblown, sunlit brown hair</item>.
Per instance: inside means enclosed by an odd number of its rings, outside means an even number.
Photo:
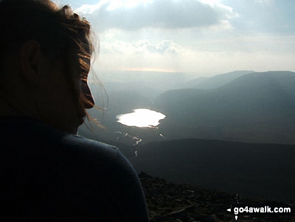
[[[49,0],[1,0],[0,20],[0,115],[76,133],[94,106],[89,23]]]

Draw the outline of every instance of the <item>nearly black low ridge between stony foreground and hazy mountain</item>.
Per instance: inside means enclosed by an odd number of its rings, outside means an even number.
[[[137,172],[247,197],[295,200],[295,145],[180,139],[136,150],[137,157],[127,157]]]

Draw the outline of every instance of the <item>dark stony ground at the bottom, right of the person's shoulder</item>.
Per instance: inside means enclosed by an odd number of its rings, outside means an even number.
[[[152,177],[146,173],[139,174],[145,192],[150,222],[222,222],[236,221],[235,214],[228,212],[232,204],[280,205],[282,202],[261,199],[248,199],[219,190],[174,184],[170,181]],[[249,214],[238,216],[240,221],[295,221],[293,203],[288,203],[288,214]]]

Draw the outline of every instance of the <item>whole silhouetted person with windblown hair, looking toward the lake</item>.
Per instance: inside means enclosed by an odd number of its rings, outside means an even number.
[[[148,221],[129,161],[77,136],[93,45],[67,6],[0,4],[0,221]]]

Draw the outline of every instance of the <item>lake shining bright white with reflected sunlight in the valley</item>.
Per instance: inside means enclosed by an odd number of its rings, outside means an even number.
[[[155,127],[166,116],[149,109],[135,109],[133,113],[118,115],[118,122],[127,126]]]

